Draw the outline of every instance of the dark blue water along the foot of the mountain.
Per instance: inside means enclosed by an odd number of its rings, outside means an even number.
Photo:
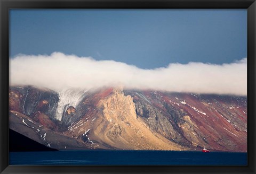
[[[247,153],[194,151],[10,152],[10,165],[247,165]]]

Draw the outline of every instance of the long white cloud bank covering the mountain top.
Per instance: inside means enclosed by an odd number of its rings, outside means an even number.
[[[10,85],[53,90],[122,85],[128,89],[246,95],[246,72],[246,58],[231,64],[175,63],[156,69],[62,53],[10,59]]]

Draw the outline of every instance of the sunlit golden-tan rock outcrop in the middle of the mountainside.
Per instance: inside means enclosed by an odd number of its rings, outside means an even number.
[[[131,95],[124,95],[120,89],[114,89],[98,104],[102,108],[100,124],[93,127],[91,138],[107,143],[115,149],[135,150],[182,150],[161,134],[151,132],[141,118],[137,117],[135,104]]]

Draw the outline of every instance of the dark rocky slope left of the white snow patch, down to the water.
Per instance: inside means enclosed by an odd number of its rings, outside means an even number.
[[[55,149],[86,149],[82,141],[61,133],[55,119],[59,94],[33,86],[12,86],[9,90],[9,128]],[[22,142],[21,142],[22,143]]]

